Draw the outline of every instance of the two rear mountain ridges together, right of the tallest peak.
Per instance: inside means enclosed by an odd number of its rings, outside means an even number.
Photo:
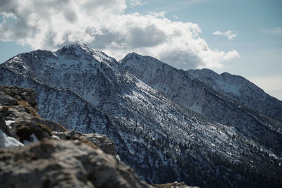
[[[273,148],[278,146],[279,151],[282,151],[282,123],[281,120],[278,120],[279,118],[274,119],[282,115],[281,101],[257,88],[257,93],[264,95],[266,99],[273,99],[273,103],[268,101],[260,101],[260,103],[261,106],[269,106],[273,109],[274,118],[266,116],[268,111],[264,111],[266,115],[263,115],[259,114],[261,111],[255,111],[255,108],[247,108],[249,106],[245,106],[245,102],[240,104],[240,98],[234,100],[232,96],[239,94],[246,96],[247,92],[244,92],[243,88],[255,89],[256,87],[255,84],[245,80],[245,78],[228,73],[219,76],[208,69],[178,70],[155,58],[140,56],[135,53],[125,56],[120,63],[130,73],[133,73],[154,89],[163,92],[165,96],[178,104],[206,115],[219,123],[237,127],[244,134],[252,135],[267,146]],[[205,77],[206,80],[202,77]],[[213,87],[211,87],[211,84],[206,84],[206,82],[209,83],[209,80],[216,79],[218,81],[213,82]],[[238,80],[243,81],[239,82]],[[230,93],[233,95],[229,97]],[[252,92],[249,93],[249,96],[252,97]],[[245,98],[242,101],[245,101]],[[275,100],[276,103],[274,103]],[[256,100],[249,100],[249,104],[256,102]]]

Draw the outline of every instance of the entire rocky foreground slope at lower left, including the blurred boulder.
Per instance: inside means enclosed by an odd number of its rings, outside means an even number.
[[[151,187],[104,135],[66,130],[36,111],[32,89],[0,85],[1,187]]]

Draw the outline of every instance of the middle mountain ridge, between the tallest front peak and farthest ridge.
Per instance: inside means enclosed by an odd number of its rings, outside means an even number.
[[[155,58],[137,54],[125,56],[120,63],[140,80],[192,111],[206,115],[224,125],[232,125],[240,130],[247,130],[246,133],[249,133],[250,125],[253,126],[252,129],[254,130],[259,127],[260,130],[254,133],[255,137],[262,137],[269,144],[273,143],[274,140],[267,141],[269,135],[265,135],[266,132],[272,134],[271,137],[276,137],[276,144],[282,141],[280,139],[281,121],[266,120],[265,115],[240,104],[239,101],[234,101],[223,92],[213,89],[209,84],[204,84],[203,80],[197,80],[197,77],[188,74],[188,71],[178,70],[161,63]],[[212,70],[205,69],[204,72],[217,75]],[[278,110],[278,113],[282,115],[282,103]],[[279,133],[274,135],[273,130]],[[276,144],[273,143],[274,146]]]

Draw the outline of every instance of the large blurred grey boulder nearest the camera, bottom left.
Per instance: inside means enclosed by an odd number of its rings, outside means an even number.
[[[78,141],[0,149],[1,187],[150,187],[114,156]]]

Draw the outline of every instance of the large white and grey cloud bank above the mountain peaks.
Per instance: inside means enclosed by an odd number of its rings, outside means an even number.
[[[125,0],[0,0],[0,40],[55,50],[82,42],[117,59],[135,51],[176,68],[219,68],[237,51],[214,51],[195,23],[159,13],[125,14]],[[130,1],[128,1],[130,2]]]

